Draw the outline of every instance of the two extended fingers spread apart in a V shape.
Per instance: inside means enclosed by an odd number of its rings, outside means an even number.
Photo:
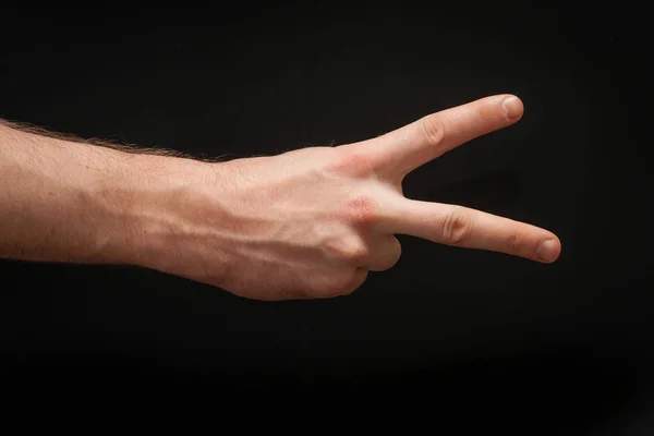
[[[400,189],[404,175],[475,137],[516,123],[522,101],[511,95],[483,98],[424,117],[382,137],[343,148]],[[438,243],[554,262],[557,237],[546,230],[457,205],[393,196],[380,207],[378,229]]]

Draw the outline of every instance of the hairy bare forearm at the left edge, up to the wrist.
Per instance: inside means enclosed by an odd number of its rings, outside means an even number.
[[[0,122],[0,256],[147,264],[191,182],[180,167],[193,165]]]

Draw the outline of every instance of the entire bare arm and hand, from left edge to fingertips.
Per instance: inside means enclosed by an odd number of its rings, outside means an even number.
[[[402,193],[412,170],[522,114],[496,95],[362,142],[222,162],[0,122],[0,256],[136,265],[266,301],[355,291],[399,261],[396,234],[552,263],[550,231]]]

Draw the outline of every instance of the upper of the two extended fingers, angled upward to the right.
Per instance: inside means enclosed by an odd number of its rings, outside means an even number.
[[[516,123],[523,111],[517,96],[495,95],[428,114],[350,147],[374,169],[404,175],[461,144]]]

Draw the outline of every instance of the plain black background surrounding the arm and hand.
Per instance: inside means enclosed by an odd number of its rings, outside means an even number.
[[[420,408],[432,423],[577,434],[654,425],[653,45],[643,10],[619,8],[5,15],[0,117],[196,155],[344,144],[516,94],[518,124],[414,171],[404,193],[545,227],[562,254],[541,265],[400,235],[397,266],[353,295],[284,303],[138,268],[3,261],[4,391]]]

